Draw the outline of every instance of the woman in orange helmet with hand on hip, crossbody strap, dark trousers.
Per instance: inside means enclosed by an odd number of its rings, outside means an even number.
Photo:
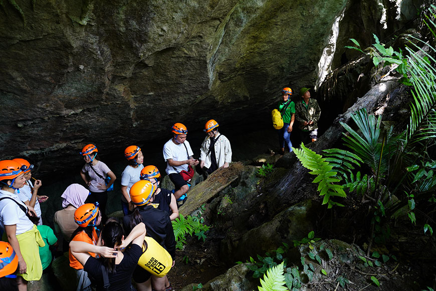
[[[83,147],[80,154],[85,160],[85,165],[80,171],[80,176],[91,192],[89,202],[98,202],[103,220],[106,220],[107,189],[110,188],[117,177],[105,163],[98,160],[97,153],[98,149],[93,144]],[[110,180],[106,184],[105,179],[107,177]]]

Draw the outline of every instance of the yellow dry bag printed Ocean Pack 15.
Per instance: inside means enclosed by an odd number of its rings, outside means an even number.
[[[171,268],[171,255],[152,237],[144,238],[147,247],[142,245],[142,255],[138,265],[147,270],[150,274],[163,277]]]

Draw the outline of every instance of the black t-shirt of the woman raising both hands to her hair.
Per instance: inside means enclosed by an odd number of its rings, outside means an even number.
[[[115,272],[109,273],[109,290],[132,290],[132,274],[138,263],[139,257],[142,255],[142,248],[137,244],[123,252],[124,257],[121,262],[115,265]],[[94,257],[89,257],[86,260],[83,269],[87,271],[97,283],[97,290],[104,290],[103,275],[101,270],[102,261]]]

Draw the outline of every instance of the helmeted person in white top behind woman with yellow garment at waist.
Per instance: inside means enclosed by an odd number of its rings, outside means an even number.
[[[38,190],[42,186],[41,180],[35,179],[35,185],[32,184],[30,178],[32,178],[32,170],[34,165],[29,163],[29,161],[21,158],[13,159],[13,161],[18,162],[22,166],[26,166],[26,170],[24,171],[24,177],[26,178],[26,184],[23,188],[15,190],[18,197],[20,197],[21,201],[23,201],[26,205],[30,205],[35,209],[37,216],[40,218],[38,225],[43,224],[43,219],[41,217],[41,205],[40,202],[45,202],[49,197],[45,195],[38,195]]]

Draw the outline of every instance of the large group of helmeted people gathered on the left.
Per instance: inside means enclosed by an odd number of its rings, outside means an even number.
[[[76,271],[77,290],[91,290],[93,283],[98,290],[133,290],[131,278],[138,290],[172,289],[166,274],[175,259],[171,220],[179,216],[177,200],[180,205],[186,200],[195,166],[210,174],[228,167],[232,160],[230,142],[217,127],[215,120],[206,122],[199,160],[193,158],[186,141],[186,127],[181,123],[171,127],[163,156],[172,191],[160,187],[162,176],[155,166],[143,166],[140,147],[127,147],[128,165],[121,174],[121,221],[107,218],[105,211],[107,191],[116,175],[99,160],[94,144],[83,147],[80,154],[85,165],[80,176],[86,187],[69,185],[61,196],[62,209],[54,215],[62,249],[69,252],[70,266]],[[30,181],[33,168],[26,159],[0,161],[2,290],[26,290],[29,280],[39,280],[52,261],[49,247],[57,245],[53,230],[42,223],[39,203],[48,196],[38,195],[41,180]],[[153,254],[150,261],[143,258],[147,252]]]

